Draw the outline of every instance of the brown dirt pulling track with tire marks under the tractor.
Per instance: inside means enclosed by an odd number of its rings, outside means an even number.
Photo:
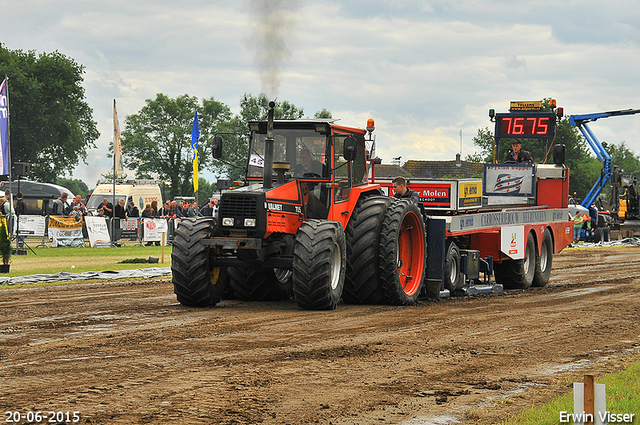
[[[640,247],[568,249],[553,268],[543,289],[330,312],[186,308],[168,278],[2,289],[3,421],[498,422],[568,391],[567,371],[640,357]]]

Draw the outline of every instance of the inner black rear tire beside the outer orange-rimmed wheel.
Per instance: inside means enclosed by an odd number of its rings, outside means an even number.
[[[378,272],[382,221],[392,198],[373,196],[358,201],[345,230],[347,270],[342,299],[350,304],[379,304],[383,299]]]

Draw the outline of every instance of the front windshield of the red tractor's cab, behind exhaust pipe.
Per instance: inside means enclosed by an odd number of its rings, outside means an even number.
[[[262,177],[266,137],[266,134],[257,132],[251,135],[248,177]],[[273,162],[288,163],[288,173],[294,178],[329,177],[326,136],[314,129],[274,129],[273,139]]]

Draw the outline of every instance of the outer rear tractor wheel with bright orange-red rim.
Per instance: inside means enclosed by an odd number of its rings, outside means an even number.
[[[418,300],[425,276],[426,244],[422,213],[409,200],[394,201],[382,222],[380,281],[384,301],[411,305]]]

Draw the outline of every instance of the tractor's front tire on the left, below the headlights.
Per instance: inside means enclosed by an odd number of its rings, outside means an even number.
[[[190,218],[180,221],[173,238],[171,273],[173,292],[186,306],[214,306],[227,285],[226,267],[212,267],[210,248],[200,239],[211,237],[215,219]]]

